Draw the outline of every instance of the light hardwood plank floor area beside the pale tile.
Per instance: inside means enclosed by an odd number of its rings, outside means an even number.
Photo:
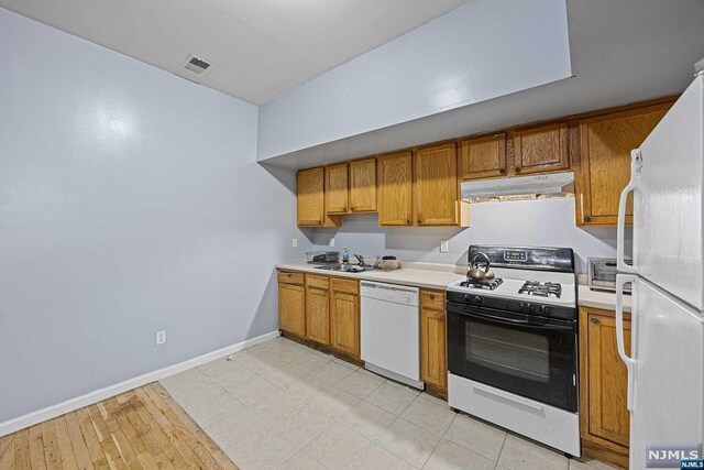
[[[158,383],[0,437],[0,469],[237,469]]]

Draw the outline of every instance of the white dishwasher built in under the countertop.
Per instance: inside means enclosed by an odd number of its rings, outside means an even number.
[[[418,288],[361,283],[361,347],[365,368],[422,389]]]

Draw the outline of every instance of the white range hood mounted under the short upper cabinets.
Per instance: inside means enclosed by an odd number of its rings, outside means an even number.
[[[557,195],[574,193],[574,173],[515,176],[462,183],[462,200],[526,195]]]

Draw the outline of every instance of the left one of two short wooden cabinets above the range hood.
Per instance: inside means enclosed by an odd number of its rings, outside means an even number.
[[[480,179],[507,173],[506,134],[468,139],[460,143],[460,178]]]

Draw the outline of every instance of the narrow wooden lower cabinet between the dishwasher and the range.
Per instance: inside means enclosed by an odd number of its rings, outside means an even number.
[[[448,390],[444,293],[420,292],[420,380],[441,394]]]

